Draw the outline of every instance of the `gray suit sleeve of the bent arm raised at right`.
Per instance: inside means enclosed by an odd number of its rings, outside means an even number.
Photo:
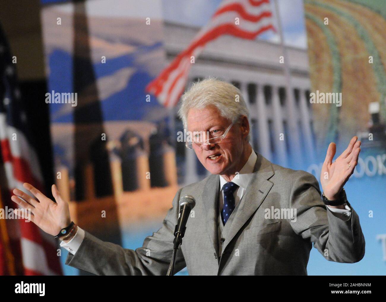
[[[354,263],[365,252],[365,241],[359,217],[350,206],[351,216],[343,217],[328,210],[322,201],[317,179],[304,171],[296,177],[290,197],[290,208],[297,211],[292,229],[329,261]]]

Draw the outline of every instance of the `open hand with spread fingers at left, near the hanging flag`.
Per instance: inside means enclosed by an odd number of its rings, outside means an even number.
[[[56,203],[31,184],[25,182],[23,186],[37,200],[19,189],[14,189],[15,195],[12,195],[11,199],[21,208],[31,210],[31,221],[39,228],[52,236],[56,236],[62,228],[66,228],[71,223],[68,202],[63,200],[55,185],[52,185],[51,189]],[[16,210],[14,211],[17,214]]]

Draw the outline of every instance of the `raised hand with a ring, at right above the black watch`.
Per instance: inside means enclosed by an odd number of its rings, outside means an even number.
[[[324,195],[329,200],[339,198],[339,193],[344,184],[349,180],[354,168],[358,163],[359,152],[361,152],[361,142],[354,136],[349,146],[339,157],[332,162],[336,152],[335,143],[330,143],[327,149],[326,159],[322,166],[320,182],[322,184]]]

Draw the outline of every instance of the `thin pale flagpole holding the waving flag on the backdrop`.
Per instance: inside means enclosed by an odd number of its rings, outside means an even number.
[[[291,158],[294,160],[293,164],[295,165],[301,165],[301,159],[299,156],[294,156],[297,154],[297,152],[301,151],[300,146],[300,137],[298,135],[299,129],[298,125],[296,123],[297,120],[294,119],[296,116],[295,111],[295,101],[293,97],[293,89],[292,89],[292,83],[291,83],[291,71],[289,70],[289,56],[286,47],[284,46],[284,36],[283,36],[283,28],[281,25],[281,19],[280,19],[280,11],[279,11],[279,4],[278,0],[273,0],[274,6],[275,6],[275,12],[276,12],[276,20],[278,23],[278,32],[280,37],[280,48],[281,52],[283,54],[284,60],[283,60],[283,71],[284,71],[284,77],[285,77],[285,84],[286,84],[286,96],[288,100],[288,111],[289,116],[291,118],[288,119],[288,125],[289,125],[289,133],[296,133],[291,137],[290,140],[290,146],[292,148],[291,150]],[[304,126],[303,126],[304,127]],[[285,137],[284,139],[289,139],[289,137]]]

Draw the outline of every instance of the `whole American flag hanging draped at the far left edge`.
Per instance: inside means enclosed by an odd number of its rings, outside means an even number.
[[[43,189],[43,177],[14,62],[0,27],[0,208],[17,208],[12,190],[24,182]],[[44,101],[44,100],[43,100]],[[28,192],[26,192],[28,193]],[[5,213],[8,216],[8,213]],[[56,241],[24,219],[0,219],[0,275],[62,275]]]

